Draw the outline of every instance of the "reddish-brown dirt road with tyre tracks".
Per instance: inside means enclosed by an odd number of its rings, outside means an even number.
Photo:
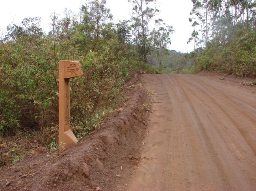
[[[154,97],[130,191],[256,190],[256,93],[198,75],[147,75]]]

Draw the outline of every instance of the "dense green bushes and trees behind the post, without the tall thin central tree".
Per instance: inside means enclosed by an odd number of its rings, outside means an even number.
[[[83,5],[80,22],[67,10],[64,18],[53,15],[48,35],[38,18],[7,27],[0,42],[0,136],[28,129],[43,132],[58,124],[58,60],[82,65],[83,76],[70,80],[76,129],[92,129],[92,120],[121,98],[120,88],[140,62],[128,43],[128,26],[111,23],[105,4],[102,0]],[[100,21],[95,15],[99,13]],[[127,30],[120,33],[116,26]]]

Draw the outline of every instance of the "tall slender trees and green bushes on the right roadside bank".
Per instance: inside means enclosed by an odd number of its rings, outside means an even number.
[[[194,27],[186,55],[194,63],[182,73],[221,71],[256,76],[256,1],[192,0],[189,22]]]

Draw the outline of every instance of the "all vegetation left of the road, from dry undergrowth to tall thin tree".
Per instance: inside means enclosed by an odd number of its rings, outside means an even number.
[[[40,18],[7,26],[0,39],[0,166],[31,149],[58,149],[58,61],[78,60],[83,76],[70,80],[71,129],[77,137],[100,128],[125,97],[130,73],[149,69],[147,55],[171,43],[173,28],[154,21],[156,0],[131,0],[130,20],[113,22],[106,0],[91,0],[80,13],[53,13],[51,31]],[[150,7],[150,8],[149,8]],[[154,29],[149,23],[155,22]]]

